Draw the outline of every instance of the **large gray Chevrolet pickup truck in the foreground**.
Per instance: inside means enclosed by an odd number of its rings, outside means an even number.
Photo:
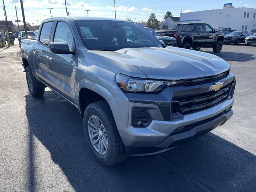
[[[134,22],[49,18],[36,40],[22,40],[21,54],[30,94],[49,87],[74,105],[106,166],[170,150],[233,114],[236,82],[226,61],[167,47]]]

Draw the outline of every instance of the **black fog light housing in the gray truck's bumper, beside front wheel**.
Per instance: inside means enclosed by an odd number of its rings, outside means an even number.
[[[133,127],[147,127],[152,122],[152,117],[145,108],[132,108],[132,126]]]

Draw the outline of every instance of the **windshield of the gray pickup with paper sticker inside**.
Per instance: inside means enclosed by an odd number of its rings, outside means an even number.
[[[127,21],[77,20],[80,37],[89,50],[160,46],[157,38],[139,24]]]

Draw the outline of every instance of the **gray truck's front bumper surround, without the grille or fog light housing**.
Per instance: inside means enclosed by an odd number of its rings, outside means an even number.
[[[235,86],[233,74],[229,74],[222,79],[224,84],[232,84],[231,90]],[[208,83],[200,86],[172,87],[167,88],[160,94],[142,95],[139,100],[138,94],[126,94],[129,99],[129,121],[128,127],[119,130],[122,141],[129,155],[150,155],[164,152],[193,138],[205,134],[214,128],[224,124],[233,114],[232,96],[222,102],[204,110],[184,114],[178,118],[170,118],[173,96],[180,92],[204,92],[208,89]],[[232,94],[231,94],[232,95]],[[147,108],[152,117],[149,126],[132,126],[132,109]]]

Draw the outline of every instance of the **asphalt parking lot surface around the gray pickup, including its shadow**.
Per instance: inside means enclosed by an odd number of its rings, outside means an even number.
[[[232,118],[163,154],[104,167],[86,145],[78,110],[48,88],[33,98],[19,47],[1,48],[0,191],[255,192],[256,46],[224,45],[216,55],[236,76]]]

